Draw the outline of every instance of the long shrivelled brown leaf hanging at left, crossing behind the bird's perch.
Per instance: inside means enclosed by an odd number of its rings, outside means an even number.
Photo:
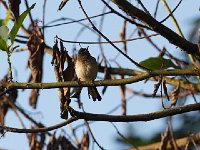
[[[41,32],[37,25],[33,27],[32,36],[29,38],[27,46],[30,52],[28,67],[31,70],[31,82],[41,82],[45,43],[42,39]],[[29,104],[33,108],[36,108],[38,93],[38,89],[33,89],[29,97]]]

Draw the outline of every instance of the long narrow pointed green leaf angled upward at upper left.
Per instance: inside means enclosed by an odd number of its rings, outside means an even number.
[[[31,11],[31,9],[34,8],[36,3],[34,3],[30,8],[28,8],[26,11],[24,11],[19,18],[17,19],[17,21],[15,21],[13,28],[10,31],[10,39],[11,39],[11,43],[14,43],[15,37],[17,35],[17,32],[19,31],[20,26],[22,25],[24,19],[26,18],[26,16],[28,15],[28,13]]]

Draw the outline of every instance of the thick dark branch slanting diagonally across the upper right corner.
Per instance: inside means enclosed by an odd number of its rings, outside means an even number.
[[[198,54],[198,45],[193,44],[186,39],[179,36],[177,33],[159,23],[150,15],[134,7],[131,3],[126,0],[112,0],[122,11],[126,12],[129,16],[137,18],[147,24],[152,30],[162,35],[170,43],[180,47],[189,54]]]

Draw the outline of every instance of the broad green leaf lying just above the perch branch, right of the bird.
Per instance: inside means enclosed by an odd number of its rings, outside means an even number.
[[[165,59],[162,57],[150,57],[144,61],[141,61],[139,64],[151,70],[167,69],[170,67],[180,69],[170,59]]]

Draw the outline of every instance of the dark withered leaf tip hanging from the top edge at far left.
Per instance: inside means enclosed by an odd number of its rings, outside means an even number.
[[[13,12],[15,19],[19,17],[19,5],[21,3],[21,0],[9,0],[9,8]]]

